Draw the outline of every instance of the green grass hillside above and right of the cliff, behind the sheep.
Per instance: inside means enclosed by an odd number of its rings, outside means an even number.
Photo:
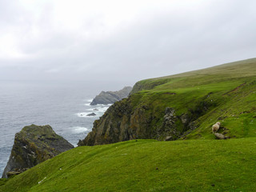
[[[254,58],[143,80],[137,85],[141,91],[133,94],[131,99],[134,107],[151,106],[154,116],[158,118],[164,116],[167,106],[174,107],[178,115],[186,114],[190,109],[195,110],[202,104],[209,106],[206,113],[196,121],[198,129],[186,135],[186,138],[214,138],[210,134],[211,126],[218,121],[222,122],[231,138],[255,137],[255,66]],[[153,123],[152,126],[162,125],[161,121]]]

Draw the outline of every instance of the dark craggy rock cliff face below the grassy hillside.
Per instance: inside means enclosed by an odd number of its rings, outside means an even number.
[[[141,98],[139,94],[130,96],[114,105],[94,122],[93,130],[78,146],[94,146],[122,142],[130,139],[175,140],[181,138],[186,131],[197,126],[194,120],[206,113],[209,103],[198,102],[197,110],[188,110],[178,115],[176,110],[166,106],[164,100],[159,105],[154,99]],[[134,105],[135,100],[140,101]],[[147,101],[147,102],[146,102]],[[200,106],[201,105],[201,106]]]

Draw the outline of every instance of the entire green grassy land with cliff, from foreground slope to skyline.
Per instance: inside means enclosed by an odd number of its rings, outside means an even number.
[[[173,133],[163,126],[166,107],[175,109],[178,140],[139,139]],[[214,138],[218,121],[230,139]],[[117,143],[68,150],[0,180],[0,191],[254,191],[255,136],[256,58],[146,79],[84,141]]]

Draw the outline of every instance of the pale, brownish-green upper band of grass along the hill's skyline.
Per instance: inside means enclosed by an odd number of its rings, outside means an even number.
[[[162,84],[165,84],[165,86],[158,87],[160,90],[163,90],[163,88],[169,90],[170,88],[184,88],[188,86],[205,85],[209,82],[223,82],[223,80],[229,81],[230,79],[254,77],[256,71],[255,63],[256,58],[251,58],[202,70],[194,70],[162,78],[150,78],[142,80],[135,84],[132,94],[138,92],[139,90],[153,90],[154,87]]]

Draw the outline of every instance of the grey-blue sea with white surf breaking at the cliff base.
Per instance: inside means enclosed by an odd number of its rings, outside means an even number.
[[[74,146],[109,106],[90,106],[102,87],[82,82],[0,81],[0,177],[14,136],[24,126],[50,125]],[[94,113],[96,116],[88,117]]]

